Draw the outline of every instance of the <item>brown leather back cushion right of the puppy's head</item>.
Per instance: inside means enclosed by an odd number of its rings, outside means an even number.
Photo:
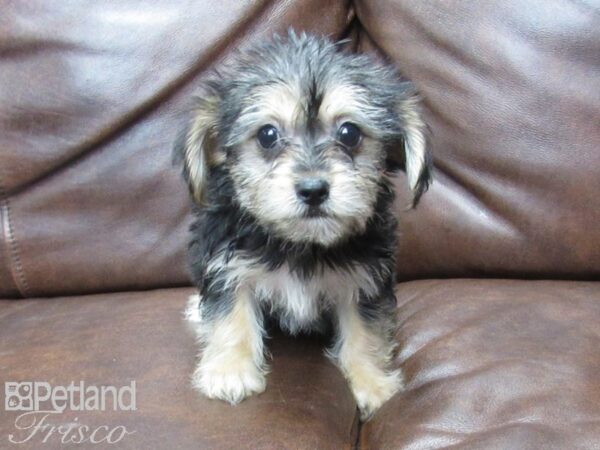
[[[356,9],[361,47],[415,82],[431,127],[434,184],[399,212],[402,278],[600,278],[598,2]]]

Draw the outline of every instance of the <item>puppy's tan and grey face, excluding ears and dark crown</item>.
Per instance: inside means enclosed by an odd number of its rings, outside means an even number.
[[[261,223],[292,241],[328,245],[372,216],[385,152],[359,114],[367,92],[310,83],[249,92],[233,124],[230,171],[240,204]]]

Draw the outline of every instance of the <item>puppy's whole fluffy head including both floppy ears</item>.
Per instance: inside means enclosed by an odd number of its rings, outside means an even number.
[[[429,181],[424,128],[393,70],[291,33],[209,82],[180,152],[197,201],[224,165],[259,223],[328,246],[364,230],[391,171],[405,168],[418,200]]]

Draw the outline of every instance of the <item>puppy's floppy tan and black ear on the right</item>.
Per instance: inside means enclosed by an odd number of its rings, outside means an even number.
[[[388,159],[391,170],[403,169],[413,194],[413,208],[432,181],[432,157],[428,143],[428,129],[421,115],[420,98],[410,83],[403,83],[396,111],[402,128],[402,154]],[[398,149],[400,150],[400,149]]]

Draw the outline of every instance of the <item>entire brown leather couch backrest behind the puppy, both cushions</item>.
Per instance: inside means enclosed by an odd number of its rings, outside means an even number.
[[[91,6],[90,6],[91,5]],[[435,182],[399,182],[403,278],[600,273],[599,12],[585,2],[9,2],[0,296],[188,283],[171,145],[199,78],[288,26],[351,36],[423,93]]]

